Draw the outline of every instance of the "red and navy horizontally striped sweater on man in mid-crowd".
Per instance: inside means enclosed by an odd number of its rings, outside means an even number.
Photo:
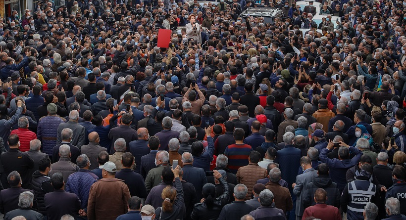
[[[224,151],[224,155],[228,158],[227,168],[233,174],[236,174],[238,168],[248,165],[248,157],[250,156],[253,148],[248,144],[231,144],[228,145]]]

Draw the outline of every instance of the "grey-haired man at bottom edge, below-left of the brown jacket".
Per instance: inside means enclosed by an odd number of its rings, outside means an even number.
[[[259,203],[261,206],[250,213],[255,219],[285,219],[285,213],[274,206],[274,195],[269,189],[264,189],[259,193]]]

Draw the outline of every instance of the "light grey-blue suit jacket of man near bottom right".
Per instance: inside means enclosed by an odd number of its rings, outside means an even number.
[[[293,188],[293,193],[297,196],[296,199],[296,216],[303,216],[303,199],[302,199],[302,190],[304,187],[313,181],[313,178],[317,177],[317,171],[313,168],[305,170],[305,173],[296,176],[296,186]]]

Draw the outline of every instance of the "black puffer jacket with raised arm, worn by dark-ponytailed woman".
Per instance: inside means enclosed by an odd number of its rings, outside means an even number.
[[[223,187],[223,194],[213,200],[211,209],[207,208],[205,202],[195,204],[191,218],[192,220],[217,220],[223,207],[230,201],[231,192],[224,177],[218,179]]]

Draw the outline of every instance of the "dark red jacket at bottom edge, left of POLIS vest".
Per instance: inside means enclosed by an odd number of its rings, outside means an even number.
[[[328,206],[325,203],[317,203],[314,206],[307,207],[302,220],[311,216],[321,220],[341,220],[340,211],[338,211],[337,207]]]

